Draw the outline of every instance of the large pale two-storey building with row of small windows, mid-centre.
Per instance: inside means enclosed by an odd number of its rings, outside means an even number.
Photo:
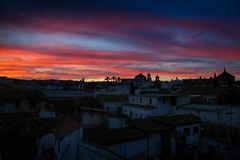
[[[189,104],[190,97],[174,94],[129,95],[122,113],[131,118],[146,118],[174,114],[179,105]]]

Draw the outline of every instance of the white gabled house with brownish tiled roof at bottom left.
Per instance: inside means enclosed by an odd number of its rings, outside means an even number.
[[[83,128],[77,122],[65,122],[38,141],[38,159],[79,159]]]

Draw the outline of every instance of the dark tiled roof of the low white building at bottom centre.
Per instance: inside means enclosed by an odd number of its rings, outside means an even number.
[[[103,146],[124,143],[147,137],[143,132],[131,128],[108,129],[85,132],[84,139]]]

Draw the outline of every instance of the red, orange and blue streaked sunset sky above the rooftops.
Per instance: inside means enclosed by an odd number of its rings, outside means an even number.
[[[239,0],[1,0],[0,76],[240,79]]]

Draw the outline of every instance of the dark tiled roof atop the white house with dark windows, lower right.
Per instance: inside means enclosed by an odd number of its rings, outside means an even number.
[[[200,119],[193,114],[185,114],[185,115],[172,115],[172,116],[161,116],[161,117],[153,117],[153,121],[169,125],[169,126],[182,126],[189,124],[200,123]]]

